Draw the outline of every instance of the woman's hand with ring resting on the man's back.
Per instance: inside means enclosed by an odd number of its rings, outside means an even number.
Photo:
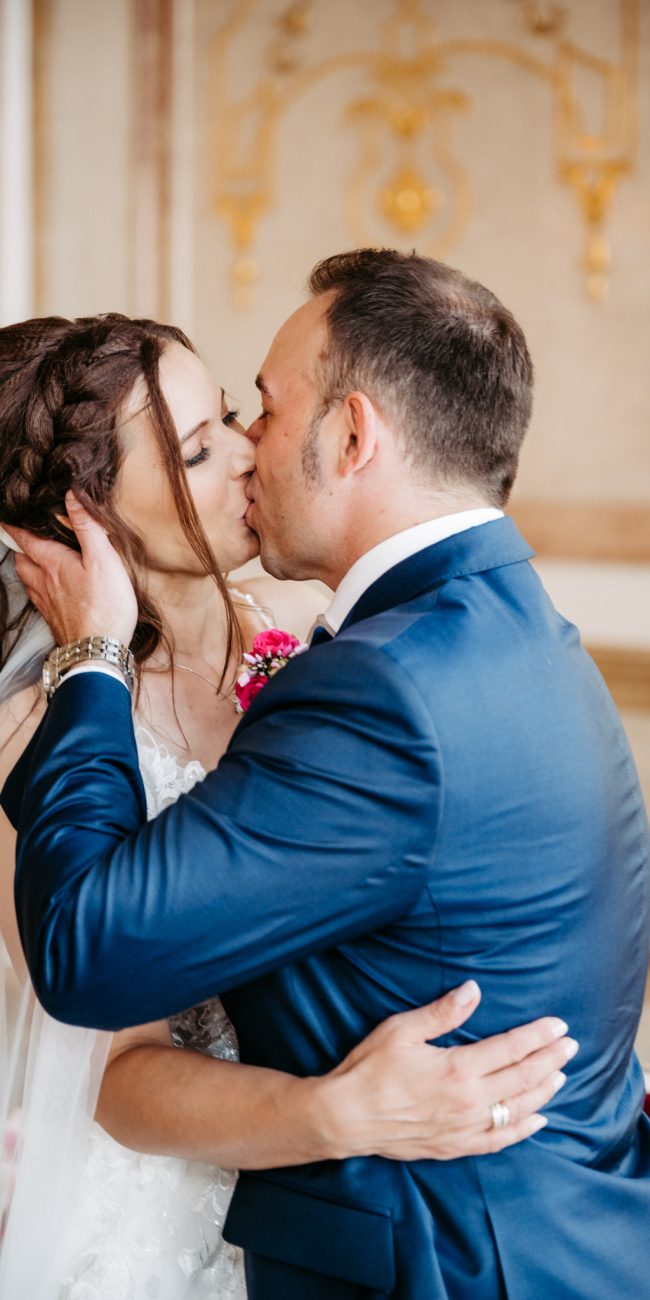
[[[538,1114],[564,1083],[577,1044],[546,1018],[464,1046],[430,1040],[463,1024],[480,1001],[473,980],[380,1024],[321,1086],[321,1123],[334,1158],[454,1160],[502,1150],[546,1123]],[[506,1127],[491,1106],[506,1102]]]

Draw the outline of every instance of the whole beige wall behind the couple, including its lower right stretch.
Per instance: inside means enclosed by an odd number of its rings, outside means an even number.
[[[406,27],[385,26],[407,10],[419,23],[412,53],[442,47],[445,57],[400,86],[402,107],[430,110],[434,90],[456,96],[447,155],[432,135],[446,121],[439,110],[413,147],[442,202],[411,234],[377,207],[399,165],[398,136],[386,116],[350,120],[359,103],[390,110],[395,81],[377,81],[373,58],[407,52]],[[563,13],[562,30],[534,32],[532,10]],[[560,556],[546,576],[563,612],[590,644],[620,651],[607,671],[618,698],[634,701],[630,731],[649,771],[650,0],[32,0],[32,311],[174,318],[252,416],[251,378],[312,263],[360,240],[442,247],[526,329],[537,396],[514,511],[533,545]],[[629,48],[625,16],[632,29],[638,18]],[[627,156],[630,170],[604,224],[603,302],[585,291],[585,222],[558,176],[562,42],[585,55],[576,86],[593,136],[601,73],[625,51],[638,61],[638,139],[608,155]],[[633,68],[624,73],[633,82]],[[260,96],[261,113],[238,117]],[[265,204],[238,252],[217,211],[225,192]],[[465,211],[454,221],[456,200]],[[238,256],[259,268],[246,309],[233,298]],[[562,556],[572,563],[563,568]]]

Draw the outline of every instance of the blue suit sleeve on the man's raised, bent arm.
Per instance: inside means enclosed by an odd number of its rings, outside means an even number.
[[[40,1001],[70,1023],[139,1024],[404,915],[438,790],[421,701],[368,645],[294,659],[217,771],[148,823],[122,685],[66,682],[20,807],[17,911]]]

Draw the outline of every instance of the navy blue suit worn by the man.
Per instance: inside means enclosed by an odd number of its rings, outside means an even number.
[[[252,1300],[650,1297],[647,822],[530,554],[503,519],[398,564],[153,823],[109,677],[57,692],[5,788],[21,932],[61,1019],[220,992],[243,1061],[313,1074],[476,976],[452,1041],[556,1014],[581,1043],[549,1127],[499,1156],[243,1174],[226,1236]]]

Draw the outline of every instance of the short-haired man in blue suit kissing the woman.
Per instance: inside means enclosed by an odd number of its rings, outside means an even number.
[[[112,1027],[218,989],[243,1060],[298,1074],[469,974],[472,1035],[552,1008],[582,1049],[538,1136],[244,1174],[226,1236],[254,1300],[649,1295],[647,824],[607,690],[502,514],[524,337],[416,255],[330,257],[311,290],[257,378],[248,521],[272,573],[334,599],[217,772],[150,824],[122,682],[64,679],[22,798],[36,991]],[[18,533],[21,577],[61,641],[129,644],[125,572],[72,517],[82,559]]]

